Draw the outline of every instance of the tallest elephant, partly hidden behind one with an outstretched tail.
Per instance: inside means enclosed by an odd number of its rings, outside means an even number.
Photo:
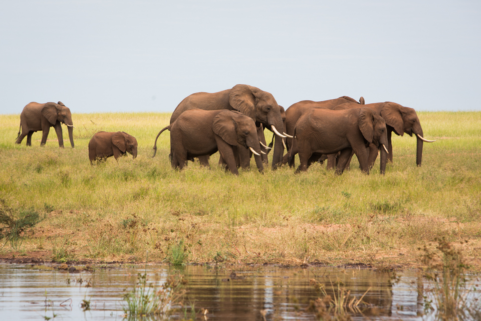
[[[272,168],[276,169],[282,162],[284,147],[282,139],[286,136],[284,133],[284,123],[279,107],[274,96],[257,87],[237,84],[231,89],[215,93],[198,92],[184,98],[175,108],[170,117],[172,124],[184,111],[191,108],[199,108],[204,110],[236,110],[244,115],[251,117],[256,123],[257,133],[262,142],[262,150],[267,151],[266,139],[264,136],[264,128],[273,131],[278,137],[276,138],[273,152]],[[262,126],[261,126],[262,125]],[[250,153],[244,148],[239,148],[240,158],[242,159],[242,167],[249,167]],[[264,155],[264,154],[263,154]],[[155,156],[155,151],[154,151]],[[264,163],[268,163],[267,154],[262,157]],[[205,164],[207,157],[199,157],[201,163]]]

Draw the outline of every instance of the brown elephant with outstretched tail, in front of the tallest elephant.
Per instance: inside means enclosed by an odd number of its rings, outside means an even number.
[[[254,153],[259,172],[264,171],[256,124],[251,117],[240,112],[193,108],[184,111],[172,124],[163,128],[157,138],[165,129],[170,131],[171,166],[174,169],[182,170],[187,160],[210,156],[218,150],[221,163],[232,174],[238,175],[238,149],[245,148]]]

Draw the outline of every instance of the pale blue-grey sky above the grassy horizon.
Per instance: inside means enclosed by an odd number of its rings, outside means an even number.
[[[235,84],[481,110],[481,2],[2,1],[0,114],[173,111]]]

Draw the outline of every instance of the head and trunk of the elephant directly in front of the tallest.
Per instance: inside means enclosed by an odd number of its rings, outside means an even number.
[[[214,117],[212,130],[229,145],[249,148],[254,153],[259,172],[264,171],[259,136],[252,118],[236,111],[223,111]]]

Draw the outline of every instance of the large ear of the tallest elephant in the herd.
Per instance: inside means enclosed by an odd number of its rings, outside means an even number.
[[[261,92],[249,85],[235,85],[229,92],[230,106],[256,121],[256,99],[261,97]]]

